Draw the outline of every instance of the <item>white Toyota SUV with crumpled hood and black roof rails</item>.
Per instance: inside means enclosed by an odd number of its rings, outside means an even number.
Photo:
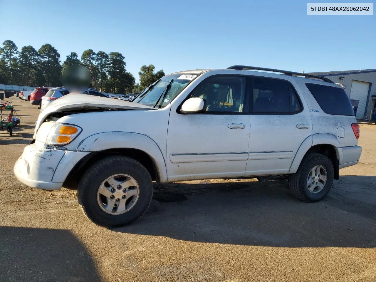
[[[321,200],[340,168],[358,163],[358,138],[346,92],[325,77],[190,70],[133,102],[59,98],[39,115],[14,173],[35,188],[78,187],[84,214],[115,227],[146,211],[153,181],[281,176],[298,199]]]

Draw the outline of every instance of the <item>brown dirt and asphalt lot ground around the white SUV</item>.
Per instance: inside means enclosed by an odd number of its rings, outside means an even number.
[[[18,182],[36,106],[0,132],[0,281],[376,281],[376,126],[361,125],[360,163],[326,199],[303,203],[286,182],[210,180],[155,187],[147,213],[108,230],[76,191]]]

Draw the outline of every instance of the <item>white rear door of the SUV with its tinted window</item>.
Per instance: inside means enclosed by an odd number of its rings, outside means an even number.
[[[254,76],[247,85],[251,99],[246,176],[287,173],[311,135],[309,109],[288,80]]]

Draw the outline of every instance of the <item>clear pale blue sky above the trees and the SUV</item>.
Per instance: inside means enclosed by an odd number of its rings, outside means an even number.
[[[144,64],[166,74],[235,64],[376,68],[376,15],[308,16],[302,0],[0,0],[0,18],[1,42],[19,50],[50,43],[62,61],[86,49],[117,51],[136,79]]]

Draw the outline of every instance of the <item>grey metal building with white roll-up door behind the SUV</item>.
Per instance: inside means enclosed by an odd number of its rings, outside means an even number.
[[[309,73],[324,76],[346,88],[356,111],[356,118],[376,121],[376,69]]]

